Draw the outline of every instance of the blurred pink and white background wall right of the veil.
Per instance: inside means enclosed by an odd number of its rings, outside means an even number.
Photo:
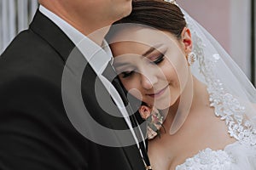
[[[177,0],[255,82],[254,0]]]

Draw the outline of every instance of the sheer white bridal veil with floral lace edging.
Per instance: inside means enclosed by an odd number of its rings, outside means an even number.
[[[193,40],[197,60],[192,74],[207,84],[211,105],[236,139],[256,143],[256,90],[224,48],[181,8]],[[242,57],[242,56],[241,56]],[[254,135],[251,135],[251,134]]]

